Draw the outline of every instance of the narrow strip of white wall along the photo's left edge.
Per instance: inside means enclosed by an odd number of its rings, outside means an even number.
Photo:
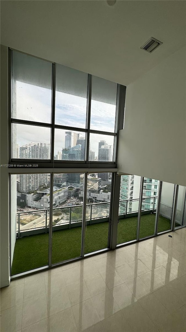
[[[1,45],[1,164],[8,164],[8,47]],[[0,287],[10,284],[9,269],[9,176],[1,167],[0,185]]]

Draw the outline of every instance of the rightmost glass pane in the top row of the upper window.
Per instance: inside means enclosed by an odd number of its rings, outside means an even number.
[[[114,132],[117,84],[92,76],[90,129]]]

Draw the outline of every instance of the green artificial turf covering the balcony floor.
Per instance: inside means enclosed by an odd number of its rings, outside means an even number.
[[[141,216],[140,238],[154,234],[155,214]],[[170,220],[160,216],[158,231],[170,229]],[[87,225],[85,254],[107,248],[109,223]],[[136,239],[137,217],[120,219],[117,244]],[[48,265],[49,235],[37,234],[16,240],[12,263],[12,275]],[[52,264],[81,255],[81,227],[57,230],[52,238]]]

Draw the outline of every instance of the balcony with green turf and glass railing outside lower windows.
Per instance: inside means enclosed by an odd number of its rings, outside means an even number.
[[[153,197],[151,199],[155,199]],[[136,239],[139,199],[121,200],[117,244]],[[81,256],[82,205],[53,209],[52,264]],[[84,253],[108,247],[110,202],[87,204]],[[155,204],[141,212],[140,238],[154,234]],[[159,231],[170,220],[159,218]],[[17,213],[12,275],[48,265],[49,209]]]

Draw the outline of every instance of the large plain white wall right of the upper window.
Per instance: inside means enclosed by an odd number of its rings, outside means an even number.
[[[185,60],[183,47],[127,86],[120,172],[186,186]]]

